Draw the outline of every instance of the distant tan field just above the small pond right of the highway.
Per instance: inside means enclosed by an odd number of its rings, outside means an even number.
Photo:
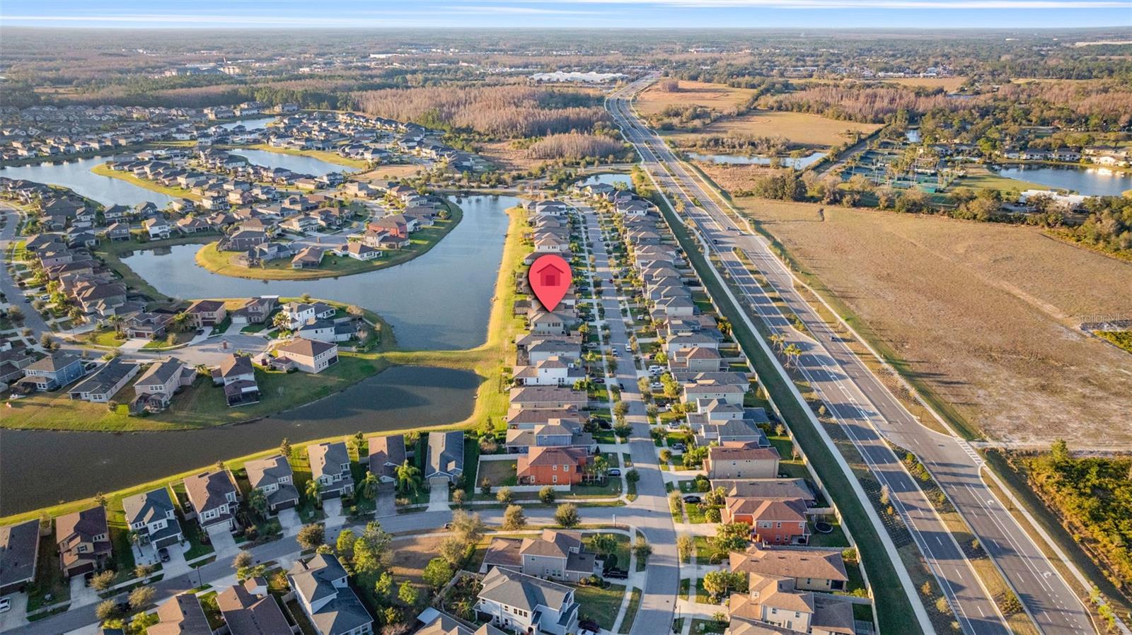
[[[727,135],[734,131],[757,137],[786,137],[790,143],[801,146],[829,147],[846,141],[849,138],[847,131],[868,135],[878,128],[878,123],[840,121],[806,112],[762,110],[739,117],[724,117],[696,132],[672,132],[666,136],[684,145],[694,143],[695,135]]]

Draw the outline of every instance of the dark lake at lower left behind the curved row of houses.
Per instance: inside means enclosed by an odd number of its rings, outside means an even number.
[[[478,386],[471,371],[393,367],[323,401],[235,426],[130,434],[0,430],[0,482],[7,483],[0,515],[207,467],[277,447],[283,437],[297,443],[455,423],[471,415]]]

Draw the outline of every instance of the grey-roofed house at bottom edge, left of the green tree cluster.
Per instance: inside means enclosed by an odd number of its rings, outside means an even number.
[[[302,612],[319,635],[368,635],[374,618],[350,589],[342,563],[329,554],[299,560],[286,574]]]

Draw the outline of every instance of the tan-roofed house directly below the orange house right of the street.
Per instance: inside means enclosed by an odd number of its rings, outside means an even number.
[[[764,549],[752,546],[731,551],[732,572],[794,577],[795,589],[804,591],[843,591],[849,582],[840,549]]]

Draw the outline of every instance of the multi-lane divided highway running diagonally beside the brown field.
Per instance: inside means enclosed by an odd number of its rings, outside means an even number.
[[[970,446],[919,424],[795,291],[791,274],[765,242],[749,231],[749,226],[729,216],[709,194],[706,183],[638,120],[632,109],[632,97],[650,81],[652,78],[645,78],[610,95],[607,102],[610,112],[626,138],[636,146],[644,168],[670,197],[683,201],[684,215],[695,223],[718,254],[748,304],[740,308],[754,311],[771,332],[786,335],[788,343],[801,349],[803,354],[797,360],[799,371],[841,423],[875,478],[887,486],[892,505],[904,520],[964,633],[984,635],[1009,630],[992,593],[983,586],[963,548],[885,440],[912,450],[928,467],[981,548],[1017,590],[1041,633],[1094,633],[1073,591],[983,482],[983,462]],[[806,333],[790,326],[767,295],[770,290],[752,275],[736,249],[754,264],[789,310],[798,316]]]

